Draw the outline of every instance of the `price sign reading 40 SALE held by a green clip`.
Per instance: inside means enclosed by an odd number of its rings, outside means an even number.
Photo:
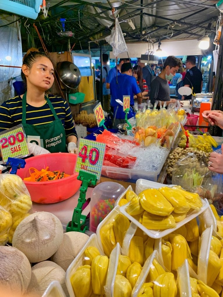
[[[80,138],[78,144],[78,158],[75,171],[87,171],[100,179],[105,154],[105,143]]]

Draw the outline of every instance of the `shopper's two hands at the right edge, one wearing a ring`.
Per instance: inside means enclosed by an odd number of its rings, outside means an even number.
[[[209,110],[208,110],[209,111]],[[205,111],[209,123],[213,126],[216,125],[223,129],[223,112],[220,110],[212,110],[207,114]],[[223,152],[223,144],[222,144]],[[223,154],[211,153],[208,162],[208,169],[216,173],[223,174]]]

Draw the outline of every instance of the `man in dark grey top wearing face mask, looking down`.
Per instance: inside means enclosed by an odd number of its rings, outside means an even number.
[[[151,82],[150,100],[154,105],[155,101],[175,103],[176,99],[170,100],[170,89],[168,80],[171,80],[178,69],[182,66],[180,59],[175,56],[168,56],[164,62],[164,67],[160,74]],[[163,104],[163,103],[162,103]]]

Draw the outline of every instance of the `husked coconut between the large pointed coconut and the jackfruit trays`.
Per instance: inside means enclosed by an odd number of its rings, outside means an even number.
[[[63,241],[59,249],[51,257],[51,260],[66,271],[88,238],[87,234],[81,232],[71,231],[64,233]]]

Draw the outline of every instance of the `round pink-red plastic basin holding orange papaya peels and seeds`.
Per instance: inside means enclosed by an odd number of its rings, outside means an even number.
[[[74,172],[76,162],[76,154],[52,153],[40,155],[26,159],[25,168],[17,170],[17,175],[23,179],[30,176],[30,167],[41,170],[47,166],[49,166],[50,171],[59,170],[70,174],[66,178],[55,181],[24,181],[33,202],[56,203],[73,196],[81,186],[81,181],[77,179],[78,172]]]

